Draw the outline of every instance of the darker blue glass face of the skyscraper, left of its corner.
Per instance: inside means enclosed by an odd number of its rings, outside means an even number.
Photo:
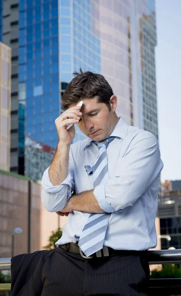
[[[20,0],[19,7],[19,157],[25,155],[25,162],[20,164],[25,166],[25,175],[40,179],[47,164],[41,163],[39,170],[37,163],[34,174],[27,143],[31,139],[36,146],[57,145],[58,1]]]

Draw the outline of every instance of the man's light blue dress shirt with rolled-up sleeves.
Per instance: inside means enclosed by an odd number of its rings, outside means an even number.
[[[94,188],[99,206],[111,213],[105,245],[115,250],[148,250],[157,245],[155,217],[158,187],[163,162],[156,137],[138,127],[129,126],[121,117],[110,136],[109,182]],[[63,209],[74,190],[76,194],[93,189],[93,177],[84,166],[92,164],[99,154],[90,138],[71,145],[69,173],[66,180],[53,186],[47,168],[42,177],[42,202],[49,212]],[[56,242],[76,242],[89,213],[72,211]]]

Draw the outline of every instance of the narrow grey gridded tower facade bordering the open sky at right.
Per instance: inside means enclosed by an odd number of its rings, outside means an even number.
[[[158,138],[156,78],[155,78],[155,51],[156,25],[155,3],[147,0],[147,17],[142,17],[142,46],[143,46],[143,120],[144,129]]]

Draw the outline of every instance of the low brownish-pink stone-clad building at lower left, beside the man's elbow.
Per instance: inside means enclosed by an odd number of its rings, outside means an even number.
[[[43,250],[52,230],[62,226],[60,216],[49,213],[41,202],[41,184],[0,170],[0,258]],[[20,227],[22,233],[12,232]]]

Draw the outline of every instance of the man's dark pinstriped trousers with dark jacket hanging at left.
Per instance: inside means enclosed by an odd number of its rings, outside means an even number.
[[[34,259],[27,264],[25,275],[22,271],[22,276],[27,279],[30,272],[29,281],[20,284],[14,278],[11,295],[147,296],[149,280],[147,259],[139,252],[132,255],[130,253],[131,251],[123,251],[119,256],[83,259],[79,254],[66,252],[61,248],[38,251]],[[27,262],[27,259],[28,257],[24,258],[24,261]]]

